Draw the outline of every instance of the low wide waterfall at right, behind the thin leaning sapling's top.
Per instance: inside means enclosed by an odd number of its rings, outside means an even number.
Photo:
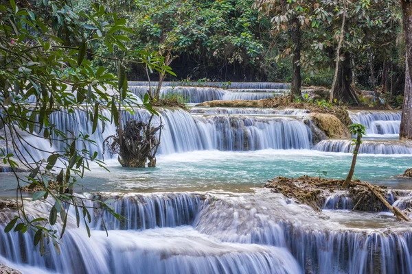
[[[351,140],[321,140],[314,150],[325,152],[345,152],[354,150]],[[399,140],[364,140],[359,153],[367,154],[412,154],[412,142]]]

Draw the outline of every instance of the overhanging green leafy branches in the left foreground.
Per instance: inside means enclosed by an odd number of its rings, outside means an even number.
[[[73,195],[73,186],[78,184],[76,178],[89,170],[90,162],[106,169],[97,152],[92,154],[76,145],[95,141],[84,132],[76,136],[61,132],[54,125],[52,114],[84,110],[93,134],[98,123],[103,128],[104,123],[119,125],[121,108],[133,111],[131,107],[137,105],[128,91],[125,64],[144,64],[173,74],[157,53],[130,49],[127,35],[131,32],[124,18],[107,12],[103,5],[95,4],[79,12],[69,1],[38,1],[38,5],[28,8],[14,1],[0,5],[0,139],[5,144],[0,149],[0,160],[12,169],[23,165],[30,170],[28,176],[14,173],[20,192],[22,184],[36,186],[40,190],[34,193],[33,201],[48,199],[54,204],[48,218],[30,219],[24,207],[19,207],[5,232],[13,227],[21,233],[32,230],[34,244],[40,246],[41,253],[44,238],[58,244],[70,207],[76,209],[78,226],[84,219],[89,233],[91,216],[84,206],[87,199]],[[104,55],[95,53],[95,47],[101,45],[106,47]],[[93,58],[113,63],[117,75],[104,66],[93,65]],[[155,113],[147,98],[144,107]],[[111,113],[110,119],[102,114],[104,110]],[[25,136],[44,138],[51,144],[59,142],[63,149],[42,151],[49,153],[47,160],[36,159],[27,147],[37,148]],[[22,195],[16,197],[16,202],[23,203]],[[124,219],[108,203],[94,202],[95,212],[104,210],[116,219]],[[53,227],[56,223],[62,224],[60,233]]]

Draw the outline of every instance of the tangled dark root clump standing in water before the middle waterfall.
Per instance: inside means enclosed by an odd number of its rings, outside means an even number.
[[[149,167],[155,167],[163,124],[160,119],[160,125],[153,127],[152,119],[153,115],[148,123],[127,121],[121,131],[117,129],[116,135],[104,140],[103,150],[107,147],[111,155],[118,154],[117,160],[124,167],[146,167],[146,163]]]

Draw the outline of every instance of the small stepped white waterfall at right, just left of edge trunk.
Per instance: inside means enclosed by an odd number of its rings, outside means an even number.
[[[401,112],[389,111],[359,111],[349,112],[352,123],[361,123],[366,127],[366,133],[387,135],[399,134]]]

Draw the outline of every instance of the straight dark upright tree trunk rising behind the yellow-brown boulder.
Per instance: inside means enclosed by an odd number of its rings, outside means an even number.
[[[301,40],[299,21],[296,16],[290,20],[290,40],[293,43],[293,58],[292,58],[292,82],[290,84],[290,100],[301,98]]]

